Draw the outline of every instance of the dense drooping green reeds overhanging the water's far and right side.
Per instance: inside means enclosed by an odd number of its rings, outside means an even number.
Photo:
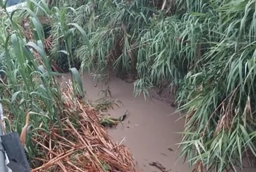
[[[255,1],[51,2],[57,4],[73,7],[67,21],[88,35],[73,37],[81,70],[133,74],[135,95],[145,97],[161,84],[178,88],[186,112],[181,149],[190,165],[223,171],[256,156]]]

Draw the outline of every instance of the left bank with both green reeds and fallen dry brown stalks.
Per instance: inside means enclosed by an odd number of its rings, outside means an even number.
[[[16,131],[31,171],[134,171],[132,155],[116,145],[101,126],[102,110],[112,104],[89,104],[72,58],[73,34],[88,42],[86,32],[68,22],[72,8],[49,8],[45,1],[27,1],[11,13],[0,1],[1,103],[5,133]],[[72,82],[60,87],[49,25],[58,27]],[[63,44],[64,43],[64,44]],[[89,47],[88,44],[84,44]],[[52,55],[53,56],[53,55]],[[105,101],[106,103],[106,101]],[[2,121],[2,120],[1,120]],[[116,121],[117,123],[118,121]],[[2,126],[1,126],[2,127]]]

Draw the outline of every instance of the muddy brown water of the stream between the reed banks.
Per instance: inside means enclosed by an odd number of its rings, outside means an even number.
[[[66,82],[70,79],[70,74],[65,74],[61,80]],[[97,100],[104,97],[100,94],[101,85],[95,87],[93,78],[89,74],[82,76],[82,82],[88,99]],[[183,131],[184,120],[177,121],[179,115],[173,114],[175,109],[156,99],[145,101],[143,96],[134,98],[133,83],[126,83],[119,78],[112,78],[110,88],[112,98],[120,100],[123,105],[108,113],[112,117],[119,117],[125,111],[129,113],[123,124],[109,130],[109,134],[116,142],[130,148],[138,163],[137,171],[161,171],[149,165],[151,162],[159,162],[166,170],[188,172],[188,164],[184,164],[182,160],[177,161],[180,155],[177,143],[181,141],[181,135],[177,132]],[[252,170],[255,169],[246,168],[241,172]]]

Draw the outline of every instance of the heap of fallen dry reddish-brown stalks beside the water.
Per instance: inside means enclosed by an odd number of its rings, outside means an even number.
[[[39,145],[35,160],[42,165],[35,171],[135,171],[131,152],[114,144],[112,138],[99,124],[99,112],[90,105],[72,99],[73,90],[68,85],[62,89],[65,98],[59,125],[52,125],[50,133],[40,131],[33,137]]]

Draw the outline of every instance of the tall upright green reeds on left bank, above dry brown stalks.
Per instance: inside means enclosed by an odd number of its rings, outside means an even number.
[[[62,114],[62,95],[56,76],[61,74],[51,69],[51,59],[46,53],[45,33],[38,16],[45,15],[48,18],[58,19],[61,34],[65,38],[66,47],[62,53],[69,58],[69,69],[73,76],[74,91],[82,96],[79,73],[70,64],[70,37],[76,29],[84,31],[77,24],[66,24],[66,9],[50,9],[45,1],[27,1],[27,6],[19,8],[12,13],[6,10],[6,4],[0,1],[2,8],[0,22],[0,47],[1,72],[5,74],[0,83],[1,102],[5,111],[5,123],[7,132],[17,131],[22,133],[25,125],[29,124],[25,149],[31,167],[38,166],[34,159],[38,155],[38,145],[33,143],[32,137],[39,130],[49,131],[49,125],[59,124],[59,116]],[[57,13],[56,13],[57,12]],[[27,21],[28,26],[22,24]],[[68,26],[73,26],[68,29]],[[26,30],[32,29],[32,38],[28,38]],[[69,34],[67,32],[70,32]],[[84,34],[84,36],[86,36]],[[84,37],[85,38],[85,37]],[[59,53],[61,53],[59,52]],[[78,87],[76,86],[78,83]],[[26,119],[29,119],[26,121]],[[63,131],[61,131],[63,134]]]

